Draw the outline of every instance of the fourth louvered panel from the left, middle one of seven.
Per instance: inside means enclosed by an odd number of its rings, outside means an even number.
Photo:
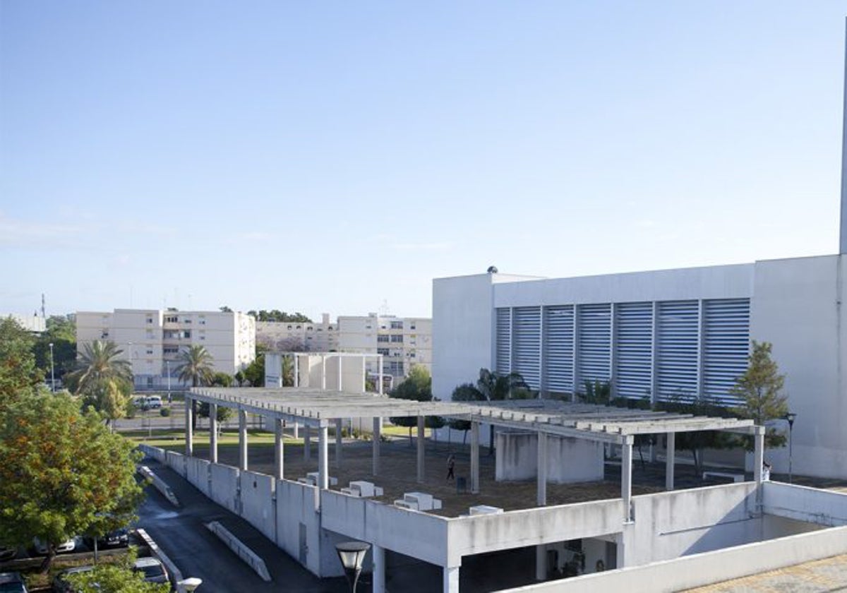
[[[585,381],[610,379],[610,354],[612,347],[612,305],[579,305],[577,308],[577,374],[582,391]]]

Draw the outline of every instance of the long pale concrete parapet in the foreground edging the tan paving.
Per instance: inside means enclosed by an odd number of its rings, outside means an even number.
[[[567,586],[568,593],[613,590],[670,592],[844,553],[847,553],[847,527],[839,527],[508,591],[553,593]]]

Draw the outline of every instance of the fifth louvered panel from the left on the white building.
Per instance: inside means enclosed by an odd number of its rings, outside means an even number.
[[[615,306],[615,395],[650,397],[653,303]]]

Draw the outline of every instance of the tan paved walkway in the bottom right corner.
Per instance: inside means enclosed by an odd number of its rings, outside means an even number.
[[[847,591],[847,555],[795,564],[743,579],[690,589],[688,593],[734,593],[735,591],[750,591],[750,593]]]

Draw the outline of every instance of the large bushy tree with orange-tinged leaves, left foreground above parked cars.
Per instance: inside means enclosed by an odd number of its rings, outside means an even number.
[[[141,456],[70,396],[24,396],[0,417],[0,541],[56,547],[81,534],[102,535],[135,518],[143,491]]]

